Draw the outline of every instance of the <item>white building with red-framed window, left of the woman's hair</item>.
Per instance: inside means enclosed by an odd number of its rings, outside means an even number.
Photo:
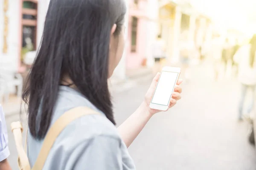
[[[10,71],[23,71],[24,54],[35,51],[40,44],[48,0],[3,1],[0,3],[0,67],[6,65]]]

